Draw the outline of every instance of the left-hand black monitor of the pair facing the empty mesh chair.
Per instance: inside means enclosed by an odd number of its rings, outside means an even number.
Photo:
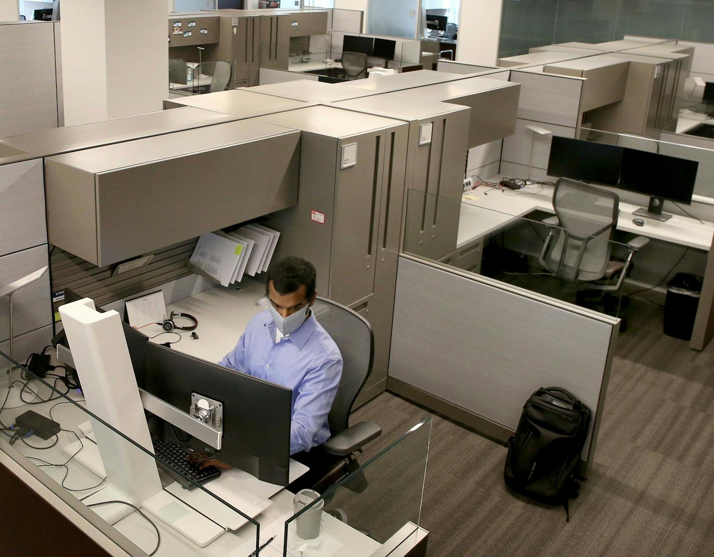
[[[553,136],[547,172],[548,176],[617,186],[622,161],[622,147]]]

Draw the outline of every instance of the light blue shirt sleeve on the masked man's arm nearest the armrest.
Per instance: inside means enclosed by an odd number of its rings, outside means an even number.
[[[298,387],[290,424],[290,453],[309,451],[325,425],[342,376],[341,360],[326,360],[306,373]]]

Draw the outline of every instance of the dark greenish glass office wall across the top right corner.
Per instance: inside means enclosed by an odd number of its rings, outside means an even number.
[[[624,35],[714,42],[714,2],[703,0],[504,0],[499,58],[532,46],[597,43]]]

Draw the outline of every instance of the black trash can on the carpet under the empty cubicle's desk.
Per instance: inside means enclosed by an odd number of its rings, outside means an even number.
[[[665,301],[665,334],[689,341],[704,278],[690,273],[678,273],[667,283]]]

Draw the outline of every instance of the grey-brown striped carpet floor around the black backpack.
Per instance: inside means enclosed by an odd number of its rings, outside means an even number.
[[[661,307],[633,301],[631,310],[628,331],[618,338],[593,472],[571,501],[570,523],[563,508],[506,491],[506,448],[433,416],[420,518],[431,532],[430,557],[714,555],[714,342],[692,351],[662,333]],[[362,458],[430,415],[382,393],[351,418],[383,427]],[[412,474],[421,465],[417,449],[415,443],[401,451],[405,459],[410,450],[414,455],[406,466]],[[410,473],[375,472],[410,483]],[[380,494],[379,515],[416,513],[418,491],[402,498],[397,491]]]

